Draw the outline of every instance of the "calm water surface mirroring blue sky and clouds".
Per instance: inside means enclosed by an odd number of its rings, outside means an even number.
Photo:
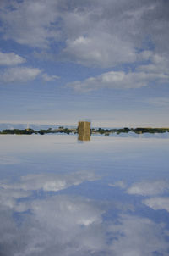
[[[169,255],[168,138],[0,140],[0,255]]]

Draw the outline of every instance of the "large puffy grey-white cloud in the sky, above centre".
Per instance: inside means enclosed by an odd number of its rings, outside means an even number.
[[[109,67],[136,60],[134,49],[117,36],[100,32],[99,36],[79,36],[66,42],[63,54],[79,64]],[[67,57],[67,58],[68,58]]]

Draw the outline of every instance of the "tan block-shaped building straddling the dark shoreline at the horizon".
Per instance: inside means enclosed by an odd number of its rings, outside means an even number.
[[[90,122],[80,121],[78,125],[79,141],[90,141]]]

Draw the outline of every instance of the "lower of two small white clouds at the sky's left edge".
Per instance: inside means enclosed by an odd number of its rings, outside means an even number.
[[[35,80],[41,70],[37,68],[16,67],[3,70],[0,74],[1,83],[26,82]]]

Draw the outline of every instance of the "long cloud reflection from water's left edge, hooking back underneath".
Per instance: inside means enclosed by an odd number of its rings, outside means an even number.
[[[69,186],[78,186],[84,181],[95,181],[98,177],[94,172],[80,171],[65,175],[26,175],[20,178],[17,183],[7,181],[0,182],[0,203],[18,212],[23,212],[30,207],[29,203],[17,203],[17,199],[30,196],[32,191],[44,190],[57,192]]]

